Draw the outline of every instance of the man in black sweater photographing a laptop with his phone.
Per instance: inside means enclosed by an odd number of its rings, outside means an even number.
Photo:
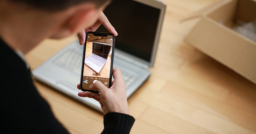
[[[68,133],[38,94],[24,54],[46,38],[61,39],[85,33],[102,23],[117,32],[102,10],[109,0],[0,0],[1,133]],[[125,83],[119,69],[113,69],[110,89],[95,82],[90,92],[78,93],[99,101],[104,113],[102,133],[129,133],[135,119],[129,115]],[[79,88],[79,85],[78,85]]]

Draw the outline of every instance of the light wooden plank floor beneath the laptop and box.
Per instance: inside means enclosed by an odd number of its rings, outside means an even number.
[[[255,134],[256,85],[183,42],[197,20],[179,20],[217,0],[163,1],[167,10],[152,75],[128,99],[136,118],[131,134]],[[46,40],[26,58],[35,68],[74,38]],[[102,131],[100,112],[35,84],[71,133]]]

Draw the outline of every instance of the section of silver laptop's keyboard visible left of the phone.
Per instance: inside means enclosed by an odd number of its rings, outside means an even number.
[[[53,60],[53,64],[69,72],[81,74],[82,54],[72,49]]]

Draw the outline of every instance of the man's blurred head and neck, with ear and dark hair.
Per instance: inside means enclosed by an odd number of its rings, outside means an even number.
[[[0,37],[27,53],[45,38],[60,39],[91,28],[110,1],[0,0]]]

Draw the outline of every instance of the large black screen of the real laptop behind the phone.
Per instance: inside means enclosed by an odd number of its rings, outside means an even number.
[[[160,9],[133,0],[116,0],[104,14],[118,33],[115,48],[150,62]],[[101,25],[97,32],[108,31]]]

